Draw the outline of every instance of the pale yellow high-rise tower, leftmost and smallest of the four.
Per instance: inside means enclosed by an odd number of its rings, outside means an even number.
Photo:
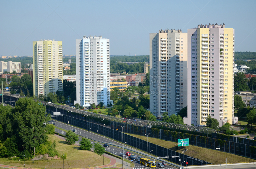
[[[62,41],[33,41],[34,95],[62,91]]]

